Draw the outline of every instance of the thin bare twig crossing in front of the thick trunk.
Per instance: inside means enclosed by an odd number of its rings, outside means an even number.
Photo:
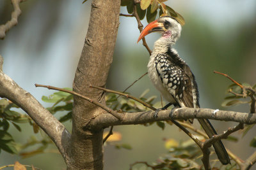
[[[47,89],[52,89],[52,90],[59,90],[61,92],[67,92],[69,94],[73,94],[74,96],[77,97],[81,97],[82,99],[85,99],[86,101],[89,101],[90,103],[93,103],[97,106],[99,106],[100,108],[102,108],[103,110],[108,111],[108,113],[110,113],[111,115],[113,115],[114,117],[118,118],[119,120],[122,120],[122,115],[120,113],[117,113],[116,111],[112,110],[111,108],[108,108],[107,106],[105,106],[102,103],[99,103],[98,101],[93,101],[92,99],[90,99],[89,97],[83,96],[81,94],[78,94],[77,92],[71,91],[71,90],[66,90],[66,89],[61,89],[58,87],[52,87],[50,85],[39,85],[39,84],[35,84],[35,87],[46,87]]]

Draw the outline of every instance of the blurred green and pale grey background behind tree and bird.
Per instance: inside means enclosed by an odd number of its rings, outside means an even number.
[[[22,15],[19,17],[19,24],[0,41],[4,73],[40,102],[43,95],[48,96],[52,91],[35,88],[35,83],[72,87],[90,17],[91,1],[84,4],[82,2],[28,0],[21,3]],[[227,73],[239,82],[252,85],[256,83],[256,1],[169,0],[166,4],[185,18],[186,24],[182,27],[182,34],[175,48],[196,76],[201,107],[250,111],[246,104],[231,108],[221,107],[231,82],[213,71]],[[0,24],[10,20],[11,12],[10,1],[1,0]],[[120,12],[127,13],[126,8],[122,7]],[[142,22],[144,26],[147,25],[146,20]],[[122,91],[147,72],[149,55],[141,42],[136,43],[139,34],[135,18],[120,17],[108,89]],[[151,49],[157,38],[159,34],[147,36]],[[148,97],[156,95],[158,100],[160,99],[159,92],[154,89],[147,76],[128,91],[132,96],[138,97],[145,89],[150,89]],[[49,106],[47,103],[43,104]],[[212,122],[218,132],[236,125],[232,122]],[[71,128],[70,122],[65,125],[68,129]],[[31,127],[23,127],[22,133],[14,128],[11,131],[20,143],[24,143],[33,135]],[[122,133],[121,142],[129,143],[132,150],[116,150],[114,146],[105,146],[104,169],[109,170],[129,169],[129,164],[138,160],[156,160],[159,155],[166,153],[163,138],[174,138],[177,141],[188,139],[174,126],[167,126],[162,131],[156,125],[125,125],[114,127],[114,131]],[[254,152],[254,148],[248,146],[254,135],[255,129],[252,129],[239,143],[224,141],[224,144],[242,159],[246,159]],[[52,148],[54,149],[54,146]],[[28,159],[21,159],[6,152],[0,154],[0,166],[13,164],[15,160],[42,169],[66,167],[58,153],[44,153]]]

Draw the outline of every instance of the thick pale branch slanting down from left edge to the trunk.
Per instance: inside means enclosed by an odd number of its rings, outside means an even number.
[[[35,97],[19,87],[3,71],[0,71],[0,97],[9,99],[28,113],[29,117],[54,141],[64,160],[68,159],[67,149],[70,147],[70,133]]]

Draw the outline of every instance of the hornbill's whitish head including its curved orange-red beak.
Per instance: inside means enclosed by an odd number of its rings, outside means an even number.
[[[162,38],[175,43],[180,37],[181,25],[173,17],[161,17],[158,20],[150,22],[150,24],[143,29],[137,43],[152,32],[161,32]]]

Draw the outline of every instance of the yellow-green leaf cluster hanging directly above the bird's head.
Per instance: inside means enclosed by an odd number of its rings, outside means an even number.
[[[136,3],[136,10],[140,20],[143,20],[143,18],[146,16],[147,22],[150,23],[156,20],[158,13],[160,17],[171,16],[176,18],[181,25],[184,25],[184,18],[179,13],[174,11],[170,6],[164,4],[165,1],[167,0],[141,0],[140,3]],[[122,0],[121,6],[126,6],[127,12],[130,14],[134,12],[134,1],[132,0]]]

